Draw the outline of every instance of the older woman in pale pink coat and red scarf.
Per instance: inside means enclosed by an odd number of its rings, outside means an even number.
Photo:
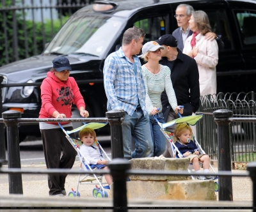
[[[199,71],[200,95],[216,94],[216,65],[218,64],[218,44],[216,40],[205,39],[211,32],[209,19],[204,11],[193,11],[189,20],[193,34],[185,42],[183,53],[193,57]]]

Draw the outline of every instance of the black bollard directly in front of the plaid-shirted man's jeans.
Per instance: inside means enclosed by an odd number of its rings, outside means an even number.
[[[124,158],[124,144],[122,123],[125,112],[122,110],[109,110],[106,112],[111,130],[111,153],[112,158]]]

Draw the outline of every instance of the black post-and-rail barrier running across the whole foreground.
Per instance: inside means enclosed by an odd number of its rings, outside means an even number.
[[[231,172],[231,158],[230,158],[230,142],[229,142],[229,125],[230,122],[251,121],[256,123],[256,118],[234,118],[232,117],[231,110],[215,110],[214,121],[217,124],[217,141],[218,141],[218,172],[216,176],[219,176],[219,200],[220,201],[232,201],[232,176],[246,177],[250,176],[253,181],[253,207],[256,208],[256,162],[249,163],[247,170],[243,174]],[[18,125],[20,122],[49,122],[49,119],[29,119],[21,118],[19,111],[10,110],[3,112],[3,118],[0,119],[0,123],[6,125],[7,139],[8,139],[8,169],[0,169],[0,173],[8,173],[9,175],[9,192],[22,194],[22,173],[27,174],[47,174],[47,173],[67,173],[67,174],[87,174],[92,173],[90,171],[72,171],[67,169],[48,169],[48,170],[26,170],[20,169],[20,154],[19,154],[19,135]],[[77,119],[51,119],[51,122],[106,122],[108,121],[111,126],[111,153],[114,159],[109,163],[109,169],[107,170],[94,170],[95,174],[111,174],[113,176],[113,206],[116,207],[114,211],[118,211],[118,207],[127,207],[127,187],[126,179],[129,174],[140,175],[181,175],[190,176],[189,172],[182,171],[166,171],[166,170],[130,170],[131,163],[124,159],[123,151],[123,137],[122,137],[122,122],[124,121],[125,113],[122,110],[111,110],[106,112],[106,117],[102,118],[77,118]],[[179,159],[177,159],[179,160]],[[202,173],[193,173],[198,176]],[[127,211],[127,208],[125,209]]]

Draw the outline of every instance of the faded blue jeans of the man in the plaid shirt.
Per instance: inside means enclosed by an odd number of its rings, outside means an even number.
[[[125,112],[122,125],[124,140],[124,158],[145,158],[153,156],[153,142],[150,134],[148,115],[144,116],[143,110],[138,107],[132,116]],[[135,140],[135,149],[132,152],[132,137]]]

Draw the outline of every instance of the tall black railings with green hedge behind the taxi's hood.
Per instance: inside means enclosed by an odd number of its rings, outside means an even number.
[[[41,54],[68,17],[92,0],[2,0],[0,66]]]

